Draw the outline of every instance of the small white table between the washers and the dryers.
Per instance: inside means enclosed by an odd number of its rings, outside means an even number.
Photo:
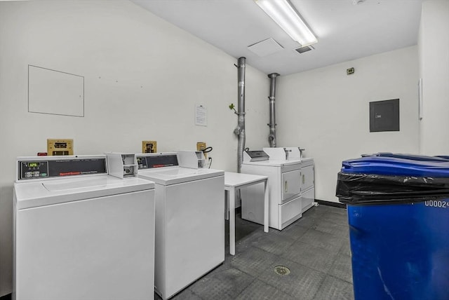
[[[229,207],[229,253],[236,254],[236,191],[253,184],[264,183],[264,232],[268,232],[268,177],[225,172],[225,191]]]

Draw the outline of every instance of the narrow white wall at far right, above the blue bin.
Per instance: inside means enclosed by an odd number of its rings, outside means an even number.
[[[449,1],[422,4],[418,46],[423,106],[420,152],[449,154]]]

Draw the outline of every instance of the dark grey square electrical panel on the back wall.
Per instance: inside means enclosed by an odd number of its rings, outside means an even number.
[[[399,131],[399,100],[370,102],[370,132]]]

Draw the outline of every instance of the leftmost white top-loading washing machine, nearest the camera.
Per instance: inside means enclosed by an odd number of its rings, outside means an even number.
[[[18,158],[13,299],[154,299],[154,183],[106,156]]]

